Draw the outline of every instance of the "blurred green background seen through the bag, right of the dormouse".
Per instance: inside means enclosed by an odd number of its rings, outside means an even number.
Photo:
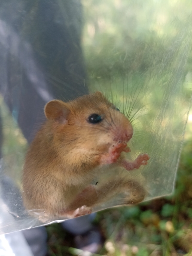
[[[150,155],[147,168],[141,168],[149,192],[146,199],[170,194],[192,88],[192,3],[82,4],[90,90],[102,91],[132,120],[131,157]]]

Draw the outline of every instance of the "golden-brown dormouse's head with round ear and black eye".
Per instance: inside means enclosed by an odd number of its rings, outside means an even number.
[[[45,106],[45,115],[64,132],[71,130],[92,141],[128,142],[133,128],[128,119],[100,92],[70,102],[52,100]],[[96,142],[95,142],[96,143]]]

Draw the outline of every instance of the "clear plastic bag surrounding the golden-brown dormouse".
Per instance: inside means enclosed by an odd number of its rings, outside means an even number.
[[[138,170],[105,166],[90,184],[130,180],[142,200],[173,191],[191,94],[191,11],[190,0],[1,1],[0,234],[64,219],[31,216],[21,196],[24,157],[52,99],[101,91],[132,121],[126,158],[150,156]],[[93,212],[122,202],[114,193]]]

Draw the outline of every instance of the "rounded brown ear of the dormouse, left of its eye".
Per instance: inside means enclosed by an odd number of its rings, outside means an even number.
[[[44,112],[47,119],[55,120],[57,123],[66,123],[70,113],[67,103],[54,99],[45,105]]]

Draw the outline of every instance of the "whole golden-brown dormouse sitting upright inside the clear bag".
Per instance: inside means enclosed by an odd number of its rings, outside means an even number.
[[[126,170],[146,165],[149,156],[124,159],[133,135],[128,119],[100,92],[70,102],[52,100],[45,106],[47,121],[31,143],[23,168],[23,200],[27,210],[50,216],[75,217],[129,191],[122,204],[137,204],[144,189],[133,180],[108,180],[90,185],[106,165]],[[124,153],[125,154],[125,153]],[[126,194],[126,193],[125,193]]]

